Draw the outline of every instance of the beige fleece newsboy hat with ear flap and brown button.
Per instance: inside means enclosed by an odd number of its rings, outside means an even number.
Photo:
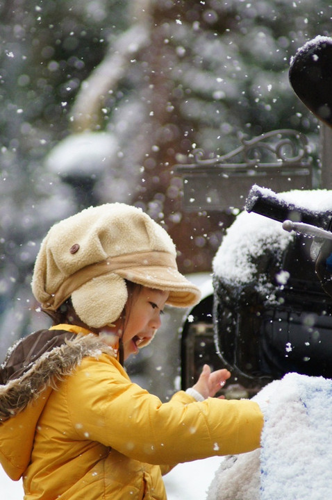
[[[32,290],[46,310],[72,297],[78,317],[100,328],[122,313],[124,278],[169,291],[172,306],[193,306],[201,296],[179,273],[165,229],[124,203],[90,207],[52,226],[35,261]]]

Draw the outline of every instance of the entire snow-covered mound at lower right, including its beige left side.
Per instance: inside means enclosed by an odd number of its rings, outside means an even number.
[[[254,398],[268,401],[262,448],[227,457],[208,500],[322,500],[332,489],[332,381],[287,374]]]

